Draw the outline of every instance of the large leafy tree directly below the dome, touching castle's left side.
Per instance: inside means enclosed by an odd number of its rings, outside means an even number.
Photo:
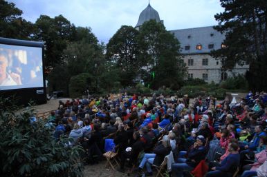
[[[186,72],[181,61],[180,43],[162,23],[147,21],[138,35],[140,55],[146,63],[147,81],[158,89],[165,85],[178,89]]]

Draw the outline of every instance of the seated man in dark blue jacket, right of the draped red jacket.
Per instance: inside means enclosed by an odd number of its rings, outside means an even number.
[[[237,167],[239,167],[240,155],[238,149],[239,145],[237,143],[230,143],[228,146],[230,154],[218,166],[212,167],[212,171],[209,171],[206,177],[232,177]]]

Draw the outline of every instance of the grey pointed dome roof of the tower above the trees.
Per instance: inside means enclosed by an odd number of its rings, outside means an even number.
[[[151,19],[156,20],[156,22],[160,22],[160,16],[158,15],[158,12],[150,6],[150,3],[148,3],[147,8],[142,10],[142,12],[139,15],[139,19],[138,19],[138,23],[136,24],[136,27],[142,25],[142,23],[145,23],[145,21],[149,21]]]

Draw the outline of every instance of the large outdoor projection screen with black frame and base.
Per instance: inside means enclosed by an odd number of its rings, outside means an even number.
[[[42,42],[0,38],[1,95],[46,102],[43,48]]]

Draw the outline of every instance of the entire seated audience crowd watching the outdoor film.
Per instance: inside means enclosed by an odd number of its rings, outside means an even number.
[[[235,100],[235,99],[234,99]],[[171,176],[266,177],[267,94],[248,93],[239,103],[208,96],[194,98],[154,94],[73,99],[51,112],[55,138],[71,137],[85,149],[84,163],[118,152],[118,171],[151,176],[152,168]]]

